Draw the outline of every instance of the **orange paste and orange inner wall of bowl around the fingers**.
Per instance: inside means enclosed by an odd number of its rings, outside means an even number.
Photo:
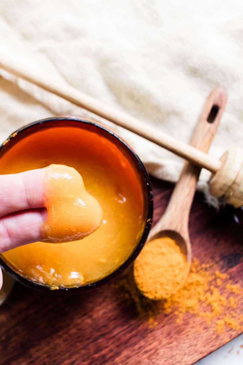
[[[1,157],[0,173],[51,164],[72,166],[81,174],[87,192],[102,207],[101,225],[79,241],[30,243],[1,257],[24,277],[51,288],[92,283],[118,268],[141,238],[145,223],[139,177],[112,142],[76,127],[48,128],[23,138]],[[56,218],[61,225],[63,217]]]

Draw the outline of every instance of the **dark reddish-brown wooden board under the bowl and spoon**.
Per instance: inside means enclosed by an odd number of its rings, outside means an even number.
[[[156,179],[152,185],[156,222],[172,185]],[[233,214],[229,206],[216,212],[196,194],[189,220],[192,253],[204,263],[218,257],[221,271],[243,287],[243,228]],[[243,294],[239,302],[243,312]],[[0,364],[186,365],[239,334],[229,330],[227,339],[225,334],[215,337],[214,326],[189,313],[181,324],[173,312],[161,312],[156,320],[150,328],[134,303],[112,285],[86,295],[59,296],[16,284],[0,307]]]

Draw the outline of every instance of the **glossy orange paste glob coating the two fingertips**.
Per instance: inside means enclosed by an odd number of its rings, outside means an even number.
[[[42,224],[44,242],[77,241],[93,233],[102,222],[103,211],[90,195],[82,176],[72,167],[50,165],[43,181],[47,218]]]

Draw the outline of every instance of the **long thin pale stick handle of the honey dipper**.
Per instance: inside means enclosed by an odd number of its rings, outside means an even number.
[[[195,147],[187,145],[186,143],[177,141],[175,138],[162,132],[161,130],[154,128],[149,124],[143,123],[140,120],[121,111],[115,110],[115,108],[110,107],[89,95],[86,95],[85,93],[71,87],[64,82],[59,82],[56,80],[53,81],[51,76],[37,72],[36,70],[29,67],[27,68],[26,65],[8,58],[3,54],[1,55],[0,59],[0,68],[51,93],[54,93],[63,99],[71,101],[71,103],[87,109],[90,112],[97,114],[102,118],[113,122],[114,124],[117,124],[120,127],[134,132],[141,137],[156,143],[158,146],[164,147],[176,155],[191,161],[193,164],[198,165],[201,168],[208,169],[213,173],[220,169],[221,162],[216,158],[210,157],[208,154],[197,150]],[[215,89],[213,93],[214,95],[212,99],[215,99],[213,103],[219,108],[218,117],[220,118],[226,103],[227,95],[222,88]]]

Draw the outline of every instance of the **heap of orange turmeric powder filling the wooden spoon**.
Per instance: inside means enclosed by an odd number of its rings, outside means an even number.
[[[171,296],[184,283],[186,274],[186,258],[169,237],[147,242],[134,263],[137,287],[149,299]]]

